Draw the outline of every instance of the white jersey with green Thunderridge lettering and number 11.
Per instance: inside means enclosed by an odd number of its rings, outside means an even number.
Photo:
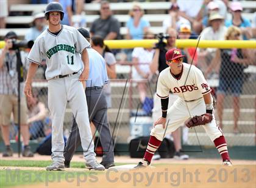
[[[88,47],[89,42],[77,29],[68,25],[62,25],[58,35],[45,30],[35,40],[27,59],[40,64],[46,59],[46,79],[52,79],[58,75],[68,75],[84,69],[79,53]]]

